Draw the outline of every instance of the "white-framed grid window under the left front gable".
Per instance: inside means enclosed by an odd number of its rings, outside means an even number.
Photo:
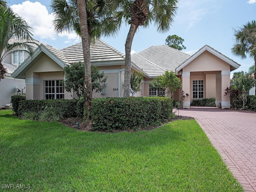
[[[45,99],[64,99],[63,80],[44,81]]]

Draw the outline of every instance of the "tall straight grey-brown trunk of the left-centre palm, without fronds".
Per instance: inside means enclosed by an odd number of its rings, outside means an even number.
[[[92,77],[91,77],[91,60],[90,60],[90,36],[88,34],[86,2],[85,0],[77,0],[78,14],[80,20],[80,30],[82,38],[82,47],[84,55],[84,86],[85,86],[85,112],[84,122],[86,126],[90,126],[90,110],[92,106]]]

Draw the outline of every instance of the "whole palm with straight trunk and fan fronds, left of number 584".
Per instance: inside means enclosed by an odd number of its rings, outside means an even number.
[[[84,54],[84,86],[86,95],[84,102],[86,114],[85,124],[90,124],[90,108],[92,103],[92,78],[90,62],[90,42],[101,35],[116,34],[120,23],[114,18],[116,4],[112,0],[52,0],[52,12],[55,15],[56,32],[75,31],[82,38]]]

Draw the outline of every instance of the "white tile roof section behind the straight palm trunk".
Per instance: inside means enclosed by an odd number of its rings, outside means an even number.
[[[64,53],[70,64],[84,61],[82,42],[64,48],[61,51]],[[91,62],[125,60],[124,54],[100,39],[91,43],[90,57]]]

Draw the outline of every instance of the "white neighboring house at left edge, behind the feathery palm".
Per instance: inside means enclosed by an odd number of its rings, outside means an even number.
[[[6,108],[10,105],[11,96],[18,93],[18,87],[22,90],[25,87],[25,80],[12,78],[11,74],[16,70],[16,68],[24,61],[26,54],[24,53],[12,53],[7,55],[3,59],[3,66],[7,69],[7,73],[4,79],[0,81],[0,108]],[[26,89],[22,91],[25,94]]]

